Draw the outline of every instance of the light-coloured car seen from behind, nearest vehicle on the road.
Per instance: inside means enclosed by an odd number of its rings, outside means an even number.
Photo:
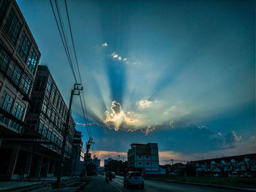
[[[129,187],[131,185],[140,185],[144,188],[144,179],[140,172],[128,172],[127,176],[124,177],[124,187]]]

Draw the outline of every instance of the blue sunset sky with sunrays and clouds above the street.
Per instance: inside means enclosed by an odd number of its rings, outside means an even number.
[[[50,2],[17,2],[39,64],[69,101],[75,80]],[[100,159],[127,159],[132,142],[157,142],[160,164],[256,152],[255,1],[67,4]],[[86,142],[79,102],[72,115]]]

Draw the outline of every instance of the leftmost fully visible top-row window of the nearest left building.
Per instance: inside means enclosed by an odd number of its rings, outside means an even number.
[[[12,9],[10,11],[10,14],[8,15],[7,22],[5,23],[4,31],[6,32],[7,37],[9,37],[13,45],[15,45],[15,43],[17,42],[20,27],[20,21],[18,20],[17,15],[15,15],[15,12]]]

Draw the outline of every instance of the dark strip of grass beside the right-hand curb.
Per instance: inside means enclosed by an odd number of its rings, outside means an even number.
[[[184,177],[184,176],[173,176],[173,175],[158,175],[158,176],[147,176],[146,178],[162,179],[162,180],[173,180],[181,182],[191,183],[207,183],[217,185],[229,185],[233,187],[241,188],[256,188],[255,178],[240,178],[240,177]]]

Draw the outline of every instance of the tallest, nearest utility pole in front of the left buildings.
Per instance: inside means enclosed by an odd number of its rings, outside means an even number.
[[[72,107],[73,96],[80,95],[80,90],[83,90],[83,87],[81,87],[80,84],[75,83],[74,89],[72,89],[72,91],[71,91],[71,96],[70,96],[70,101],[69,101],[69,110],[67,111],[66,124],[65,124],[65,128],[64,128],[64,134],[63,134],[63,142],[62,142],[62,146],[61,146],[61,156],[59,159],[59,173],[58,173],[58,177],[57,177],[57,187],[58,188],[61,184],[61,174],[62,174],[62,169],[63,169],[63,165],[64,165],[67,134],[69,133],[69,120],[70,120],[70,116],[71,116],[71,107]]]

